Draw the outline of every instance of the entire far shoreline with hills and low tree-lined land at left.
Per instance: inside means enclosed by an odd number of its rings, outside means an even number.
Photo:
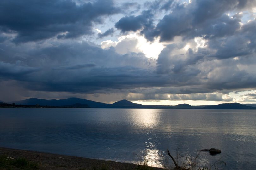
[[[69,99],[63,99],[62,100],[56,100],[59,103],[51,103],[51,100],[45,100],[45,99],[27,99],[27,100],[36,100],[36,102],[28,102],[27,104],[21,104],[19,101],[19,104],[15,103],[3,103],[0,102],[0,108],[100,108],[100,109],[235,109],[235,110],[256,110],[256,107],[243,105],[240,103],[222,103],[218,105],[197,105],[192,106],[189,104],[179,104],[176,106],[171,105],[142,105],[137,103],[132,103],[128,100],[120,100],[118,102],[115,102],[113,104],[106,104],[106,103],[99,103],[95,101],[90,101],[86,99],[79,99],[79,98],[69,98]],[[43,100],[44,102],[40,102]],[[70,100],[68,103],[66,100]],[[79,101],[77,101],[79,100]],[[23,100],[23,103],[26,100]],[[55,101],[55,100],[54,100]],[[48,104],[47,104],[48,102]],[[25,102],[26,103],[26,102]],[[37,103],[37,104],[35,104]]]

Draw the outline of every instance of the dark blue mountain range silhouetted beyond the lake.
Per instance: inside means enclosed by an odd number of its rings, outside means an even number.
[[[40,106],[58,106],[58,107],[76,107],[76,108],[149,108],[149,109],[256,109],[253,105],[243,105],[240,103],[224,103],[219,105],[202,105],[192,106],[189,104],[179,104],[176,106],[167,105],[142,105],[132,103],[128,100],[120,100],[113,104],[95,102],[92,100],[80,99],[80,98],[68,98],[68,99],[37,99],[30,98],[25,100],[13,101],[9,103],[15,103],[16,105],[40,105]]]

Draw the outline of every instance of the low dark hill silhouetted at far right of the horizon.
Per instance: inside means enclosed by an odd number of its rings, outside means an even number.
[[[240,103],[223,103],[213,106],[205,106],[203,109],[256,109],[255,107],[242,105]]]

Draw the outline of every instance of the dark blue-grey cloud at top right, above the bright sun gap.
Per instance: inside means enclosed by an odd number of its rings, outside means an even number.
[[[170,41],[175,36],[194,38],[223,37],[232,35],[240,28],[240,18],[228,17],[225,12],[234,9],[235,1],[192,1],[177,5],[171,14],[165,15],[150,36],[160,36],[161,41]],[[148,39],[152,37],[148,36]]]

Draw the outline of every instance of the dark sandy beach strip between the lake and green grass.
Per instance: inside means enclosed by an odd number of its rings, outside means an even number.
[[[7,155],[17,159],[19,157],[26,158],[39,164],[39,169],[113,169],[113,170],[131,170],[137,169],[138,165],[130,163],[120,163],[114,161],[104,161],[97,159],[82,158],[76,156],[66,156],[58,154],[50,154],[38,151],[18,150],[9,148],[0,148],[0,155]],[[160,170],[161,168],[153,168]]]

